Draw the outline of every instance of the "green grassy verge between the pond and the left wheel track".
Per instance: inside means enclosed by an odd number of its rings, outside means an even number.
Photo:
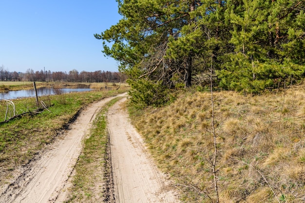
[[[13,171],[35,159],[39,152],[51,144],[60,132],[69,126],[76,115],[87,104],[104,97],[126,92],[92,91],[69,94],[56,94],[39,97],[48,110],[40,113],[24,114],[12,121],[0,124],[0,185],[8,183]],[[37,109],[35,98],[12,100],[16,113]],[[0,100],[0,120],[14,114],[13,107],[7,101]]]

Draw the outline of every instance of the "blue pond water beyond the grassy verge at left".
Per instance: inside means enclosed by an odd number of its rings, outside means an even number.
[[[88,88],[62,88],[60,92],[62,93],[70,93],[70,92],[86,92],[91,91],[92,89]],[[55,94],[53,88],[38,88],[37,89],[38,96]],[[35,91],[33,90],[18,90],[18,91],[10,91],[10,92],[1,92],[0,99],[17,99],[22,97],[35,97]]]

